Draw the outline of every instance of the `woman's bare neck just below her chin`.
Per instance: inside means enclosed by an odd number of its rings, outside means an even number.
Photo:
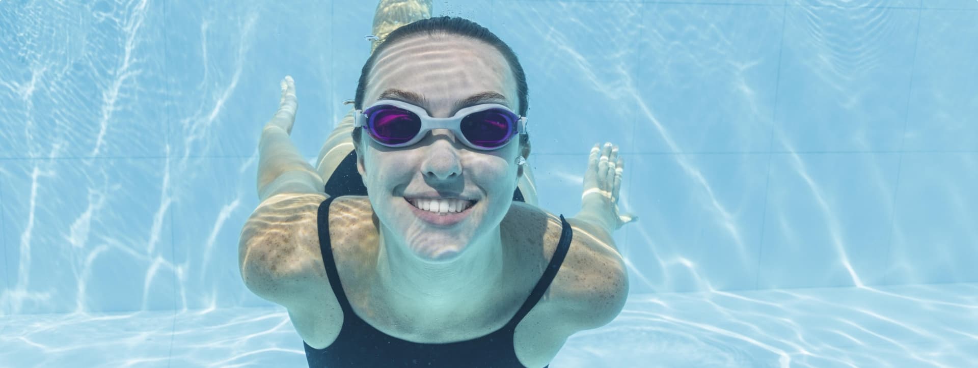
[[[398,237],[381,231],[375,297],[391,307],[445,316],[478,308],[498,288],[504,274],[500,229],[473,239],[466,250],[447,261],[432,262],[414,255]],[[481,306],[484,308],[484,306]]]

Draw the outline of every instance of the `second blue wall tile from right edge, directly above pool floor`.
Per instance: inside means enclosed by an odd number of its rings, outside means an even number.
[[[758,288],[883,282],[899,159],[898,153],[775,154]]]

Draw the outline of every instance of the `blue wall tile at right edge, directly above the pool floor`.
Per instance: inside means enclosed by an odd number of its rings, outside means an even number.
[[[887,282],[978,281],[978,154],[904,153]]]

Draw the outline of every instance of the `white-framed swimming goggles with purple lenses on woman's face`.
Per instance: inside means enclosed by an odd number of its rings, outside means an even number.
[[[499,103],[482,103],[459,110],[455,116],[436,118],[407,102],[381,100],[355,114],[354,128],[367,128],[375,142],[403,147],[421,141],[432,129],[448,129],[467,146],[495,150],[526,133],[526,118]]]

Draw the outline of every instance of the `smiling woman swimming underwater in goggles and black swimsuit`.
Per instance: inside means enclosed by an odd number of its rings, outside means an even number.
[[[289,142],[286,78],[242,231],[245,285],[288,308],[310,366],[542,367],[618,314],[628,280],[610,233],[634,220],[617,214],[622,161],[592,150],[573,219],[513,200],[532,185],[517,190],[530,147],[508,46],[468,20],[418,20],[379,43],[356,95],[354,152],[328,142],[333,172],[317,172]],[[331,188],[337,175],[363,187]]]

